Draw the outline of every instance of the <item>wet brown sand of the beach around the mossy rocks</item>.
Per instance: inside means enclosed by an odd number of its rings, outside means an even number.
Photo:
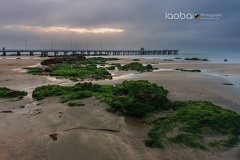
[[[0,86],[28,92],[21,99],[1,98],[0,159],[240,159],[240,148],[201,151],[183,145],[170,145],[164,150],[144,145],[150,126],[141,120],[106,111],[106,104],[94,97],[82,100],[86,105],[71,108],[59,97],[36,101],[32,91],[42,85],[74,85],[67,79],[38,76],[22,69],[39,65],[45,58],[4,57],[0,59]],[[127,64],[132,59],[109,63]],[[112,80],[92,81],[116,84],[124,80],[148,80],[169,91],[172,101],[207,100],[240,113],[240,63],[211,61],[164,61],[140,59],[158,68],[153,72],[111,71]],[[175,70],[199,69],[201,72]],[[225,85],[231,84],[231,85]],[[54,141],[49,135],[57,137]]]

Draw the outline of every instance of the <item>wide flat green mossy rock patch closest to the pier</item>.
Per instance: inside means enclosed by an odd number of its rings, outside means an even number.
[[[97,65],[105,65],[106,61],[118,60],[116,58],[94,57],[62,57],[52,58],[41,62],[43,68],[26,68],[28,73],[45,74],[50,76],[64,77],[72,80],[85,79],[112,79],[111,74],[104,68]]]

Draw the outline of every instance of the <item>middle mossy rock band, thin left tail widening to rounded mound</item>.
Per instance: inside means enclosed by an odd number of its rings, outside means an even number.
[[[154,112],[168,110],[172,102],[168,91],[145,80],[124,81],[121,84],[98,85],[78,83],[73,87],[48,85],[33,91],[33,97],[41,100],[49,96],[61,96],[61,102],[95,96],[110,105],[108,111],[120,111],[126,115],[143,118]]]

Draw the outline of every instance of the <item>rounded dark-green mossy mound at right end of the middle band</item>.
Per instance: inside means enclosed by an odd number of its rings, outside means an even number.
[[[145,80],[124,81],[115,86],[115,96],[108,110],[143,118],[171,107],[172,103],[167,99],[167,93],[168,91],[163,87]]]

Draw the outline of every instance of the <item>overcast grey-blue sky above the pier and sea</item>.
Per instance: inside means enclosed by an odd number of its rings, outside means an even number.
[[[240,54],[239,0],[0,2],[0,48]]]

